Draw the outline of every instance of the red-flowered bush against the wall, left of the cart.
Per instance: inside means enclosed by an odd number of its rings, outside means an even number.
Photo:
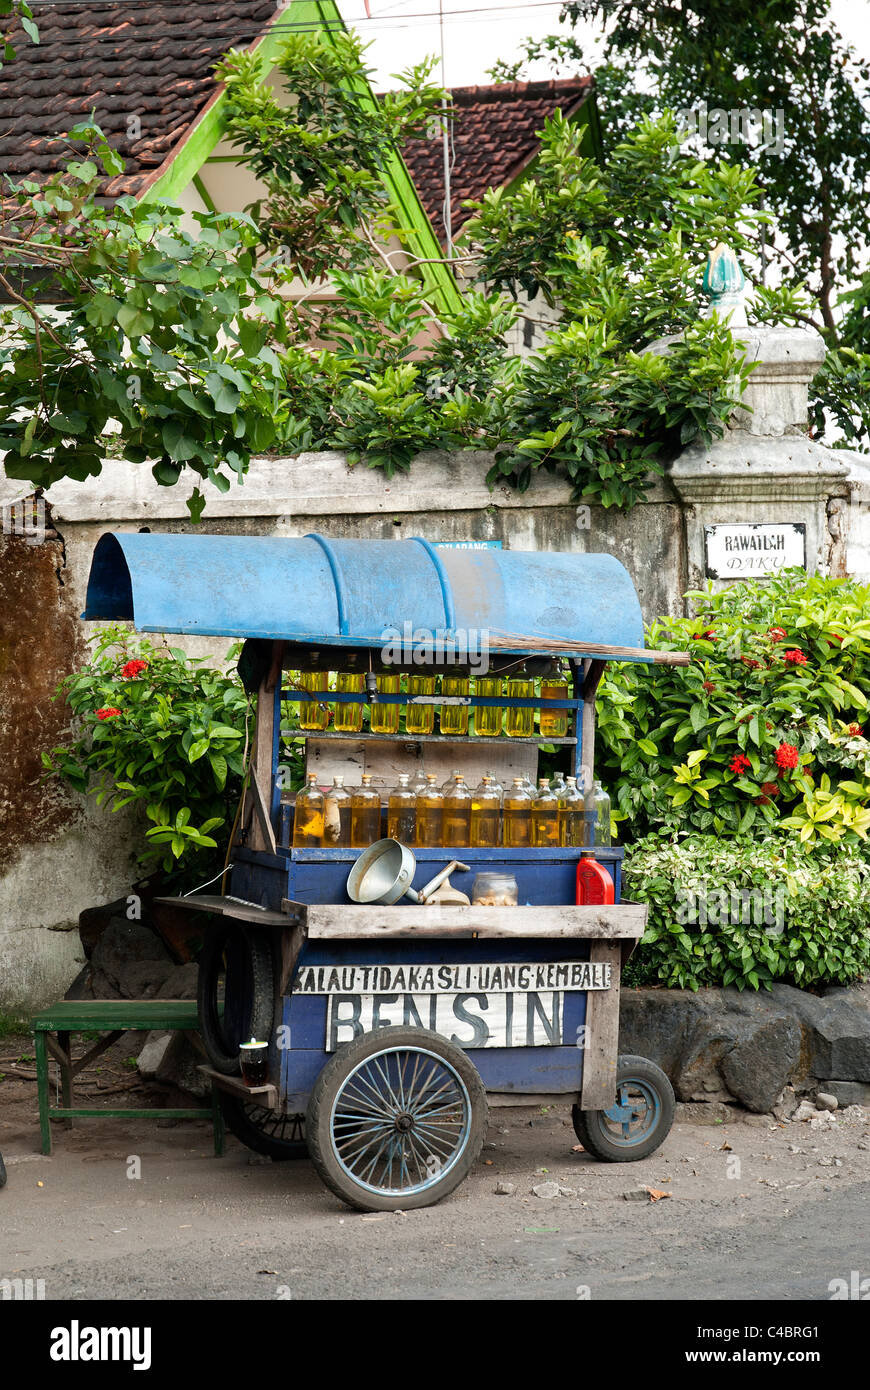
[[[253,727],[236,656],[221,667],[107,626],[57,691],[72,723],[69,741],[43,753],[47,773],[111,810],[138,808],[146,865],[181,860],[202,877],[222,862]]]

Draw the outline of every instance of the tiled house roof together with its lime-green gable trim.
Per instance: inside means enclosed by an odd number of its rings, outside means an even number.
[[[0,204],[3,175],[44,179],[71,154],[58,133],[95,113],[125,171],[97,193],[174,202],[227,128],[227,93],[213,67],[232,47],[256,49],[263,75],[286,33],[343,29],[335,0],[29,0],[39,44],[13,35],[14,61],[0,68]],[[272,22],[275,21],[275,22]],[[377,99],[356,83],[363,104]],[[128,136],[138,117],[142,131]],[[459,303],[450,270],[422,202],[396,153],[385,183],[399,207],[420,278],[441,307]]]

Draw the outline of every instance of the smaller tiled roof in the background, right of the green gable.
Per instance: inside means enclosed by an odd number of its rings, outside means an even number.
[[[550,82],[499,82],[493,86],[452,88],[456,158],[450,177],[453,235],[471,215],[467,197],[481,199],[488,188],[517,178],[538,154],[538,132],[561,110],[575,114],[591,95],[591,76]],[[443,140],[409,140],[404,163],[417,185],[432,227],[443,239]]]

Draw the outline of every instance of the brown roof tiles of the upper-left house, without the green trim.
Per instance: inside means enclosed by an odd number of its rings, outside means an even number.
[[[58,135],[95,111],[122,154],[100,192],[140,195],[214,93],[213,65],[263,35],[277,0],[31,0],[39,44],[21,35],[0,68],[0,174],[43,179]],[[140,133],[128,135],[136,117]]]

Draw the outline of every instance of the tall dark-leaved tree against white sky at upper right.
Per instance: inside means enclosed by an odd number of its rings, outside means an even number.
[[[567,29],[530,42],[525,61],[589,67],[575,25],[599,21],[605,61],[595,76],[613,145],[639,111],[698,111],[703,101],[707,113],[727,113],[728,158],[757,171],[773,214],[764,239],[755,239],[756,264],[770,263],[784,284],[807,288],[806,318],[832,352],[844,343],[862,354],[835,360],[817,378],[816,431],[827,410],[842,442],[863,445],[870,391],[864,281],[860,304],[851,302],[841,328],[837,318],[870,239],[870,68],[828,10],[828,0],[571,0],[561,10]],[[521,65],[499,64],[495,75],[516,76]],[[753,110],[767,113],[771,126],[745,140],[741,113]],[[721,133],[717,126],[712,139]],[[849,399],[856,384],[857,399]]]

